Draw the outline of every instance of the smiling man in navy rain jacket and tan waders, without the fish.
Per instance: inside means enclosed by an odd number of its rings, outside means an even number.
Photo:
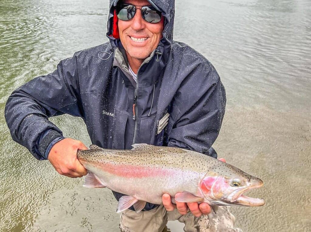
[[[211,148],[225,112],[225,89],[214,67],[189,46],[173,41],[174,1],[110,0],[110,42],[62,60],[9,97],[5,116],[12,138],[62,175],[82,177],[80,141],[64,138],[48,118],[81,117],[100,147],[131,149],[133,143],[174,146],[216,157]],[[114,192],[119,199],[123,196]],[[164,205],[164,206],[163,206]],[[146,204],[121,215],[122,231],[162,231],[167,220],[185,231],[240,231],[226,207]],[[189,210],[189,211],[188,211]]]

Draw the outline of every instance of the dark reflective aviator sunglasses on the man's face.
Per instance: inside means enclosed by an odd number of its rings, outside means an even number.
[[[142,18],[147,22],[160,22],[162,13],[152,6],[134,6],[129,4],[120,4],[117,6],[116,9],[118,18],[123,21],[128,21],[132,19],[137,11],[136,7],[142,7],[142,9],[140,9],[142,11]]]

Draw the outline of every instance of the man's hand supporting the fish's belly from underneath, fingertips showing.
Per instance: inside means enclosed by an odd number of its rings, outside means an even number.
[[[220,158],[219,160],[222,162],[226,162],[224,158]],[[178,196],[178,194],[180,194],[180,193],[176,193],[175,198]],[[162,202],[163,202],[163,205],[167,211],[173,211],[177,207],[179,213],[182,215],[187,214],[188,209],[196,217],[199,217],[202,214],[207,215],[211,212],[211,206],[205,202],[198,204],[197,202],[185,203],[185,202],[176,201],[176,205],[174,205],[171,202],[171,196],[169,196],[169,194],[167,194],[167,193],[163,194]]]

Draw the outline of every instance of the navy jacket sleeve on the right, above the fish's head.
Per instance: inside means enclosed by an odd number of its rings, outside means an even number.
[[[212,65],[196,68],[181,85],[172,106],[178,115],[169,133],[168,146],[216,158],[211,145],[219,134],[226,104],[219,75]]]

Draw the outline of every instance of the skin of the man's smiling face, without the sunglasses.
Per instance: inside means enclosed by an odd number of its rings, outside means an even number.
[[[127,56],[144,60],[156,49],[162,38],[163,16],[160,22],[147,22],[142,18],[141,11],[141,6],[150,6],[147,0],[125,0],[123,3],[136,5],[137,10],[135,16],[128,21],[118,19],[121,43]]]

